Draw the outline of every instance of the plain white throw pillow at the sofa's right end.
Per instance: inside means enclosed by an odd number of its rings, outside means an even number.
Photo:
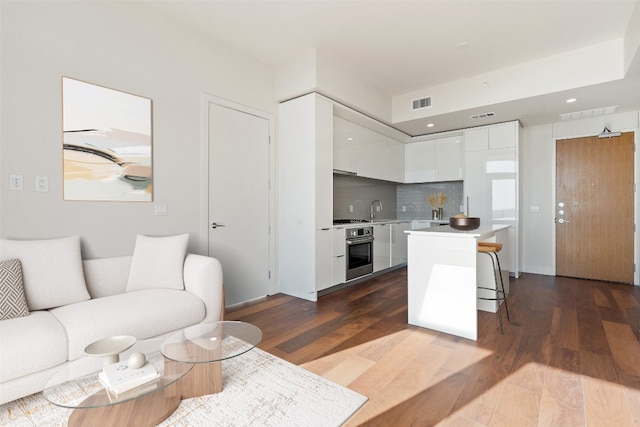
[[[184,258],[189,235],[138,235],[131,260],[127,292],[143,289],[184,289]]]

